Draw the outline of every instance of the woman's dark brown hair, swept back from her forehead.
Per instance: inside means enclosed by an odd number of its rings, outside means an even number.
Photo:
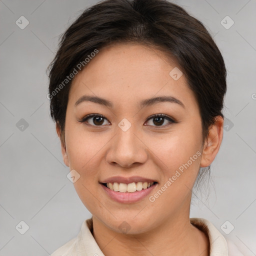
[[[85,9],[61,35],[56,55],[48,66],[50,115],[61,133],[72,79],[65,85],[63,81],[95,49],[129,42],[160,49],[175,60],[197,100],[204,141],[215,117],[223,117],[224,60],[204,25],[167,0],[100,1]],[[199,175],[198,180],[200,172]]]

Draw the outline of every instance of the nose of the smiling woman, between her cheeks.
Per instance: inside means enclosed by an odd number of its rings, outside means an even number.
[[[117,126],[115,136],[108,143],[106,161],[109,164],[130,168],[147,160],[148,150],[135,125],[123,131]]]

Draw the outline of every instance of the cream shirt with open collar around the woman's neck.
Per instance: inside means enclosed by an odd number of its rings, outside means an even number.
[[[209,256],[231,256],[228,254],[224,236],[209,220],[190,218],[190,223],[208,236]],[[92,227],[92,218],[84,220],[78,235],[56,249],[51,256],[104,256],[92,235]],[[235,254],[234,256],[236,255],[242,254]]]

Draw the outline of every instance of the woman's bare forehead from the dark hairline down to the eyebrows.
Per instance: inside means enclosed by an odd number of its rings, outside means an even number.
[[[175,80],[170,75],[172,70],[177,72],[177,68],[173,59],[156,48],[138,43],[108,45],[99,49],[74,77],[69,98],[75,100],[89,93],[130,103],[133,99],[165,94],[181,101],[194,101],[185,76]]]

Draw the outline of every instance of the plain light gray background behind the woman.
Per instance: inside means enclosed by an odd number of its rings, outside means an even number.
[[[49,255],[91,216],[66,177],[69,169],[49,117],[45,70],[58,36],[96,2],[0,0],[1,256]],[[207,200],[193,196],[191,217],[209,219],[244,255],[256,255],[256,1],[174,2],[214,36],[228,71],[223,111],[228,120],[212,164],[214,186]],[[21,15],[29,21],[24,29],[15,23]],[[234,21],[229,29],[222,24],[230,25],[230,19],[221,24],[226,15]],[[21,220],[29,226],[24,234]],[[231,224],[234,229],[225,234]]]

